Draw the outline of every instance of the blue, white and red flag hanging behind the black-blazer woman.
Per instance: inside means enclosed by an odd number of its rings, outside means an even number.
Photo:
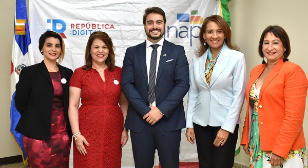
[[[34,64],[30,31],[28,25],[26,0],[16,0],[14,24],[14,40],[11,62],[11,135],[20,150],[23,161],[26,164],[28,158],[24,149],[23,135],[16,132],[16,125],[21,114],[15,108],[15,85],[19,80],[19,74],[24,67]]]

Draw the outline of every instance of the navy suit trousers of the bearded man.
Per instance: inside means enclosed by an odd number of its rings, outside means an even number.
[[[179,168],[181,130],[166,132],[160,123],[146,123],[142,132],[130,131],[130,138],[136,168],[152,168],[156,149],[162,168]]]

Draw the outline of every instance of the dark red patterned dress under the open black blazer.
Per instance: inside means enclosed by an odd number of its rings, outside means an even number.
[[[69,139],[63,107],[61,74],[49,72],[53,85],[50,140],[37,140],[24,136],[24,147],[30,167],[69,167]]]

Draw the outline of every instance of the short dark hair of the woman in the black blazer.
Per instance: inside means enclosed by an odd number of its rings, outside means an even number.
[[[63,61],[64,55],[65,55],[65,45],[64,45],[64,41],[63,41],[63,38],[62,38],[61,34],[59,34],[57,32],[54,32],[54,31],[46,31],[46,32],[44,32],[41,35],[40,39],[38,39],[38,49],[40,50],[40,52],[42,51],[43,46],[45,44],[45,41],[49,37],[57,38],[57,39],[60,40],[61,53],[60,53],[59,60],[58,60],[58,62],[60,64]]]

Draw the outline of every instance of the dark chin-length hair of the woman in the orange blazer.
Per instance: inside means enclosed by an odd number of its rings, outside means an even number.
[[[261,37],[260,37],[260,41],[259,41],[259,49],[258,49],[259,55],[262,58],[264,58],[262,46],[263,46],[264,37],[266,36],[267,33],[271,33],[271,34],[275,35],[276,37],[280,38],[282,45],[285,48],[285,55],[283,55],[283,61],[284,62],[287,61],[288,60],[287,57],[291,53],[290,39],[288,38],[288,35],[285,32],[285,30],[278,25],[267,26],[265,28],[265,30],[262,32]]]

